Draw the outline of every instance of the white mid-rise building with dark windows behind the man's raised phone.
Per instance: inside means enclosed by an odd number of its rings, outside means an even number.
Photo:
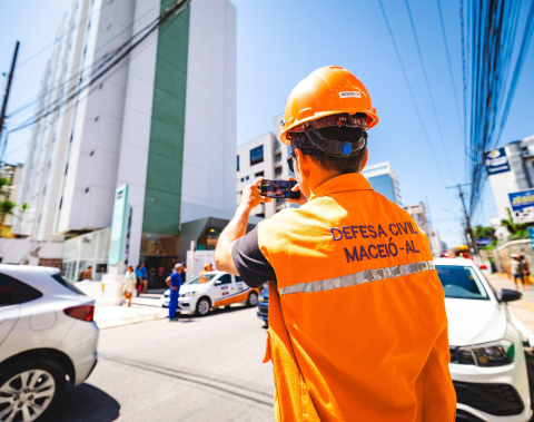
[[[290,147],[280,141],[284,115],[274,119],[275,133],[265,134],[237,148],[237,204],[241,200],[243,189],[258,177],[269,180],[287,180],[295,175],[289,170],[287,158]],[[268,218],[291,205],[285,199],[275,199],[258,205],[250,215]]]

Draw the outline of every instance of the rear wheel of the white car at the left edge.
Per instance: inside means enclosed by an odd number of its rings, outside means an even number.
[[[20,362],[0,371],[0,421],[47,419],[65,391],[65,371],[48,360]]]

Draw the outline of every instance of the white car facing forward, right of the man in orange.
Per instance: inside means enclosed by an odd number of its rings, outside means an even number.
[[[506,307],[521,293],[497,294],[471,259],[437,258],[435,265],[445,292],[456,420],[528,421],[523,340]]]

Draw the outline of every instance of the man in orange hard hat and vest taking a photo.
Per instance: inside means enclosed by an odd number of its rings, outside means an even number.
[[[269,281],[264,362],[280,421],[453,422],[444,294],[426,236],[360,170],[369,94],[348,70],[314,71],[290,94],[281,141],[301,193],[246,234],[268,200],[256,180],[221,233],[217,268]]]

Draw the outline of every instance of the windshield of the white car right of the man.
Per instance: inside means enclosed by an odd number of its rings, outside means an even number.
[[[436,265],[445,297],[488,301],[484,285],[469,266]]]

